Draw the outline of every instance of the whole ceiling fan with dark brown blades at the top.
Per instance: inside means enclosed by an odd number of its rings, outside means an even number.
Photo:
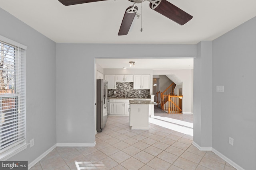
[[[76,5],[76,4],[84,4],[88,2],[98,2],[103,0],[58,0],[63,5]],[[132,21],[136,15],[136,12],[138,10],[138,7],[135,6],[136,4],[142,3],[145,0],[129,0],[133,2],[132,6],[129,6],[125,13],[124,18],[122,20],[118,35],[127,35],[128,31],[132,25]],[[176,23],[180,25],[184,25],[189,20],[191,20],[193,17],[178,8],[177,6],[171,4],[167,0],[147,0],[150,2],[149,6],[152,10],[162,14],[163,16],[166,16],[172,21],[175,21]]]

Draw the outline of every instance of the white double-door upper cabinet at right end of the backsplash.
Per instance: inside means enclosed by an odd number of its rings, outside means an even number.
[[[134,89],[150,89],[150,75],[134,75]]]

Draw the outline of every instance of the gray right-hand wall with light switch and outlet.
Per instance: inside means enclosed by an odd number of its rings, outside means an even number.
[[[212,46],[212,147],[242,168],[256,169],[256,18]],[[216,92],[218,85],[224,92]]]

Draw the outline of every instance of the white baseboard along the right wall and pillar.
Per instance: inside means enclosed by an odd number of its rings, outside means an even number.
[[[197,143],[195,143],[194,141],[192,142],[192,144],[199,150],[201,151],[212,151],[214,152],[216,155],[220,156],[220,158],[222,158],[223,160],[225,160],[226,162],[228,162],[231,166],[233,166],[234,168],[236,168],[237,170],[244,170],[244,168],[242,168],[241,166],[239,166],[238,164],[236,164],[235,162],[233,162],[232,160],[230,160],[229,158],[227,158],[226,156],[224,156],[222,153],[220,153],[218,150],[212,148],[212,147],[200,147]]]

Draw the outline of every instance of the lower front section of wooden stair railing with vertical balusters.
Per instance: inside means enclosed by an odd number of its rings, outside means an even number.
[[[165,101],[165,104],[161,105],[162,110],[168,110],[168,113],[182,113],[182,96],[163,95],[162,101]]]

